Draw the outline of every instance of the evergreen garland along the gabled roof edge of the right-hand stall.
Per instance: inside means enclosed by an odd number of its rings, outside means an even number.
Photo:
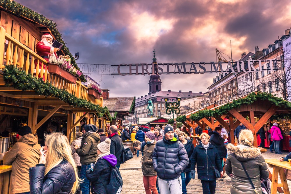
[[[194,121],[198,121],[203,118],[209,118],[213,117],[216,115],[223,115],[227,114],[228,111],[232,110],[233,108],[240,107],[244,104],[251,104],[257,100],[268,100],[271,104],[274,104],[278,107],[285,107],[285,108],[290,108],[291,109],[291,103],[289,101],[283,100],[282,98],[278,98],[276,96],[273,96],[270,93],[265,93],[265,92],[257,92],[256,93],[251,93],[245,98],[239,98],[237,100],[233,100],[232,103],[227,103],[226,105],[220,106],[218,108],[215,108],[214,110],[199,110],[198,112],[191,114],[190,119]],[[286,114],[281,114],[278,115],[274,118],[284,118],[286,117]]]

